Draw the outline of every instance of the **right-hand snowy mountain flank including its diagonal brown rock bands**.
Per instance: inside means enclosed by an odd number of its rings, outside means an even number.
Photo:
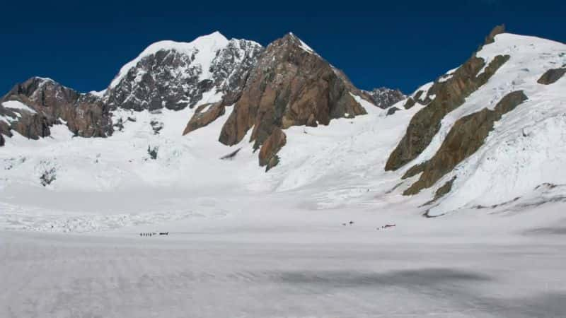
[[[403,194],[432,196],[429,217],[511,205],[562,182],[565,65],[563,44],[498,26],[464,64],[410,95],[404,106],[417,110],[385,170],[402,172]]]

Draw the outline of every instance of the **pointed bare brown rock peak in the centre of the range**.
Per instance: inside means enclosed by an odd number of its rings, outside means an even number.
[[[275,129],[328,125],[331,119],[366,114],[350,87],[340,72],[289,33],[261,54],[219,141],[234,145],[253,127],[250,141],[257,149]]]

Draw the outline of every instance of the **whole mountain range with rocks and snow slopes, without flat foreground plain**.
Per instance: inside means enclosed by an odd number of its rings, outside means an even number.
[[[12,208],[33,193],[44,221],[50,200],[145,211],[173,194],[427,216],[563,201],[565,69],[566,45],[499,28],[390,112],[293,34],[265,49],[218,33],[159,42],[104,92],[35,78],[4,96],[0,192]],[[20,210],[1,217],[16,228],[45,224],[24,222]]]

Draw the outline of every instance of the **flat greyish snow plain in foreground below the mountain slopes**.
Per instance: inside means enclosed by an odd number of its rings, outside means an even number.
[[[207,199],[240,208],[101,232],[0,231],[0,317],[566,317],[563,204],[427,219],[292,199]]]

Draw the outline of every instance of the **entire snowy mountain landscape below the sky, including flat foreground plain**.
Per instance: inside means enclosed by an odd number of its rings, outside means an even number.
[[[566,317],[565,44],[496,28],[383,109],[204,39],[0,99],[0,317]]]

